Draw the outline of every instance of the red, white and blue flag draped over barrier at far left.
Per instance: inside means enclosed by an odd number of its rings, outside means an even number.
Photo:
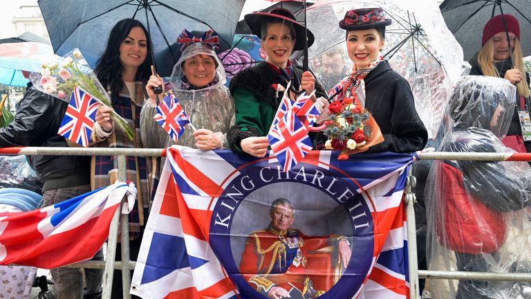
[[[52,269],[88,260],[109,237],[124,195],[122,213],[135,203],[133,183],[114,183],[29,212],[0,213],[0,264]]]

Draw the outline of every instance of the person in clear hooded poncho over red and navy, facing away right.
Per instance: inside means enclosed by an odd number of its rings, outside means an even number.
[[[510,125],[515,91],[501,78],[460,80],[448,105],[449,121],[438,150],[512,152],[500,138]],[[525,245],[523,233],[530,226],[530,176],[527,163],[434,161],[426,184],[429,268],[530,271],[524,262],[531,260],[525,255],[530,244]],[[519,233],[509,237],[514,231]],[[507,249],[511,247],[519,252]],[[431,290],[434,298],[528,298],[518,297],[527,289],[512,282],[460,280],[456,292],[454,281],[438,280]]]

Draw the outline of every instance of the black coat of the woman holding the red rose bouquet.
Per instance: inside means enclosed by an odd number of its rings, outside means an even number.
[[[389,62],[383,61],[364,81],[365,108],[373,115],[385,139],[368,152],[402,153],[423,149],[428,132],[417,114],[407,80],[393,71]]]

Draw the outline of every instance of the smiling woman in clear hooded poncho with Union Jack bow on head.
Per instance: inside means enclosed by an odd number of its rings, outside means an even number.
[[[194,132],[188,125],[180,136],[178,145],[203,150],[227,147],[227,131],[234,116],[234,102],[225,84],[225,70],[218,59],[217,35],[211,31],[197,38],[183,30],[177,39],[182,44],[182,54],[171,73],[170,84],[175,97],[183,106]],[[174,145],[167,132],[156,123],[156,94],[153,88],[160,86],[162,79],[151,75],[146,86],[149,95],[140,113],[140,133],[146,147],[169,147]],[[162,94],[159,96],[162,100]]]

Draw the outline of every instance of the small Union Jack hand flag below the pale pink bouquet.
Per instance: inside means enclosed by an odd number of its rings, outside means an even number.
[[[88,147],[98,106],[100,101],[80,87],[75,87],[57,134]]]

